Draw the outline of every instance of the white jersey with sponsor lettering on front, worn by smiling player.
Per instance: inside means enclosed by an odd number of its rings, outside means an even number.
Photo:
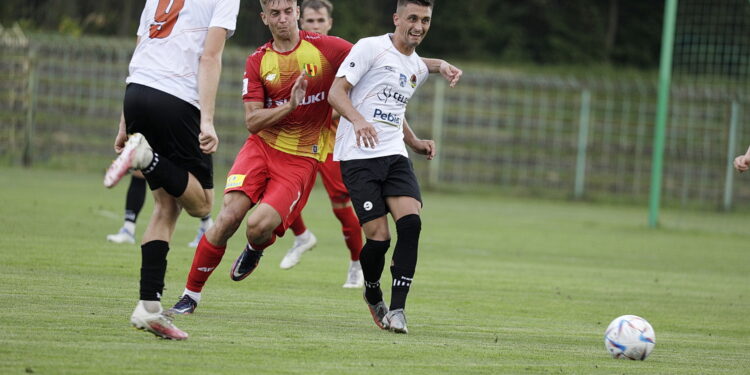
[[[404,144],[406,104],[429,72],[416,52],[406,56],[391,41],[391,34],[360,39],[339,67],[337,77],[353,86],[354,108],[375,127],[375,148],[357,147],[352,123],[341,117],[336,131],[334,160],[371,159],[389,155],[409,157]]]

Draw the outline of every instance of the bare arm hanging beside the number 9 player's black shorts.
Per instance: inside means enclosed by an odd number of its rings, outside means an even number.
[[[226,40],[227,29],[210,27],[198,65],[198,95],[201,106],[201,132],[198,141],[204,154],[212,154],[219,147],[219,137],[214,129],[214,113],[221,76],[221,55]]]

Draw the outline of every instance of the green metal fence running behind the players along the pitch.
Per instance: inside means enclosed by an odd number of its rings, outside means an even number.
[[[135,40],[26,39],[7,29],[0,40],[0,160],[103,171],[113,157]],[[250,52],[230,42],[224,55],[219,167],[230,165],[247,136],[240,96]],[[744,150],[738,140],[750,141],[742,123],[750,113],[746,90],[674,83],[665,204],[720,208],[750,201],[750,186],[728,179],[726,170],[730,155]],[[414,156],[420,180],[431,188],[645,203],[655,111],[651,75],[466,71],[456,88],[432,77],[410,102],[408,117],[417,134],[439,143],[435,161]]]

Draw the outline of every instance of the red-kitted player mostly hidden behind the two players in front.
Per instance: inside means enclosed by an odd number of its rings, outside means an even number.
[[[304,0],[300,6],[302,19],[300,21],[302,30],[312,31],[328,35],[333,26],[333,5],[328,0]],[[331,144],[335,141],[336,127],[338,126],[338,114],[334,113],[333,129],[331,131]],[[346,190],[341,177],[341,166],[333,160],[333,154],[328,154],[326,160],[318,165],[318,172],[323,180],[323,186],[331,201],[333,214],[341,222],[341,232],[344,242],[349,249],[349,269],[347,271],[344,288],[361,288],[364,285],[364,275],[359,264],[359,253],[362,250],[362,229],[359,226],[357,214],[351,205],[349,191]],[[302,215],[298,216],[290,227],[294,232],[294,245],[287,251],[281,260],[282,269],[294,267],[306,251],[312,249],[317,239],[307,229]]]

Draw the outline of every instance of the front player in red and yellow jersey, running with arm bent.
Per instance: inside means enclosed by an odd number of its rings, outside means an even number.
[[[352,44],[300,31],[295,0],[260,0],[261,19],[273,39],[247,59],[243,80],[245,123],[251,133],[224,189],[224,205],[201,239],[185,292],[171,309],[191,313],[228,239],[247,218],[247,246],[231,278],[247,277],[263,250],[281,236],[305,206],[319,162],[332,152],[328,89]]]

